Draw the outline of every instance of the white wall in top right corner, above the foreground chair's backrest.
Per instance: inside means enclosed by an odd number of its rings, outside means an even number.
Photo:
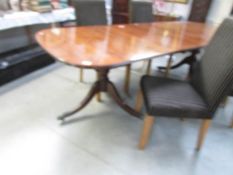
[[[229,16],[233,7],[233,0],[213,0],[207,22],[219,24],[222,20]]]

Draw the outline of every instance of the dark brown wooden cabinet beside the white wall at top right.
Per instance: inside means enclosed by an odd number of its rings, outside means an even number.
[[[212,0],[193,0],[189,21],[205,22]]]

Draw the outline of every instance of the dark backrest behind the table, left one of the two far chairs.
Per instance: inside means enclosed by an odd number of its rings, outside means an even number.
[[[72,5],[75,7],[78,25],[88,26],[107,24],[104,0],[73,0]]]

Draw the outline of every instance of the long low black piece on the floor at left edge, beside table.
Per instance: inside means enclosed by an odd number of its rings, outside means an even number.
[[[45,67],[54,60],[37,45],[0,54],[0,85]]]

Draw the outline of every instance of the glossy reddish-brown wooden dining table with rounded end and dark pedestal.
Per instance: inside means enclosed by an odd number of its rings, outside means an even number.
[[[216,27],[196,22],[154,22],[44,29],[36,33],[39,45],[54,59],[71,66],[93,69],[98,79],[81,104],[58,117],[64,120],[82,110],[100,92],[106,92],[123,110],[141,114],[119,95],[109,72],[139,61],[184,51],[196,51],[211,40]],[[196,53],[196,52],[194,52]]]

